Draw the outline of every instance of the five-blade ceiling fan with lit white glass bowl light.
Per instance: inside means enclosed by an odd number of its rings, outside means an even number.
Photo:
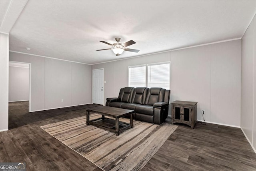
[[[123,44],[120,43],[120,40],[121,40],[121,38],[116,38],[117,43],[114,43],[114,44],[110,44],[110,43],[105,42],[105,41],[100,41],[102,43],[105,43],[105,44],[108,44],[108,45],[112,46],[112,48],[100,49],[100,50],[110,50],[111,49],[114,52],[114,54],[116,54],[116,56],[121,55],[124,51],[136,52],[136,53],[138,53],[140,51],[140,50],[136,50],[136,49],[126,48],[127,46],[130,46],[132,44],[136,44],[136,42],[134,42],[133,40],[130,40],[130,41],[125,42]],[[100,51],[100,50],[96,50],[96,51]]]

